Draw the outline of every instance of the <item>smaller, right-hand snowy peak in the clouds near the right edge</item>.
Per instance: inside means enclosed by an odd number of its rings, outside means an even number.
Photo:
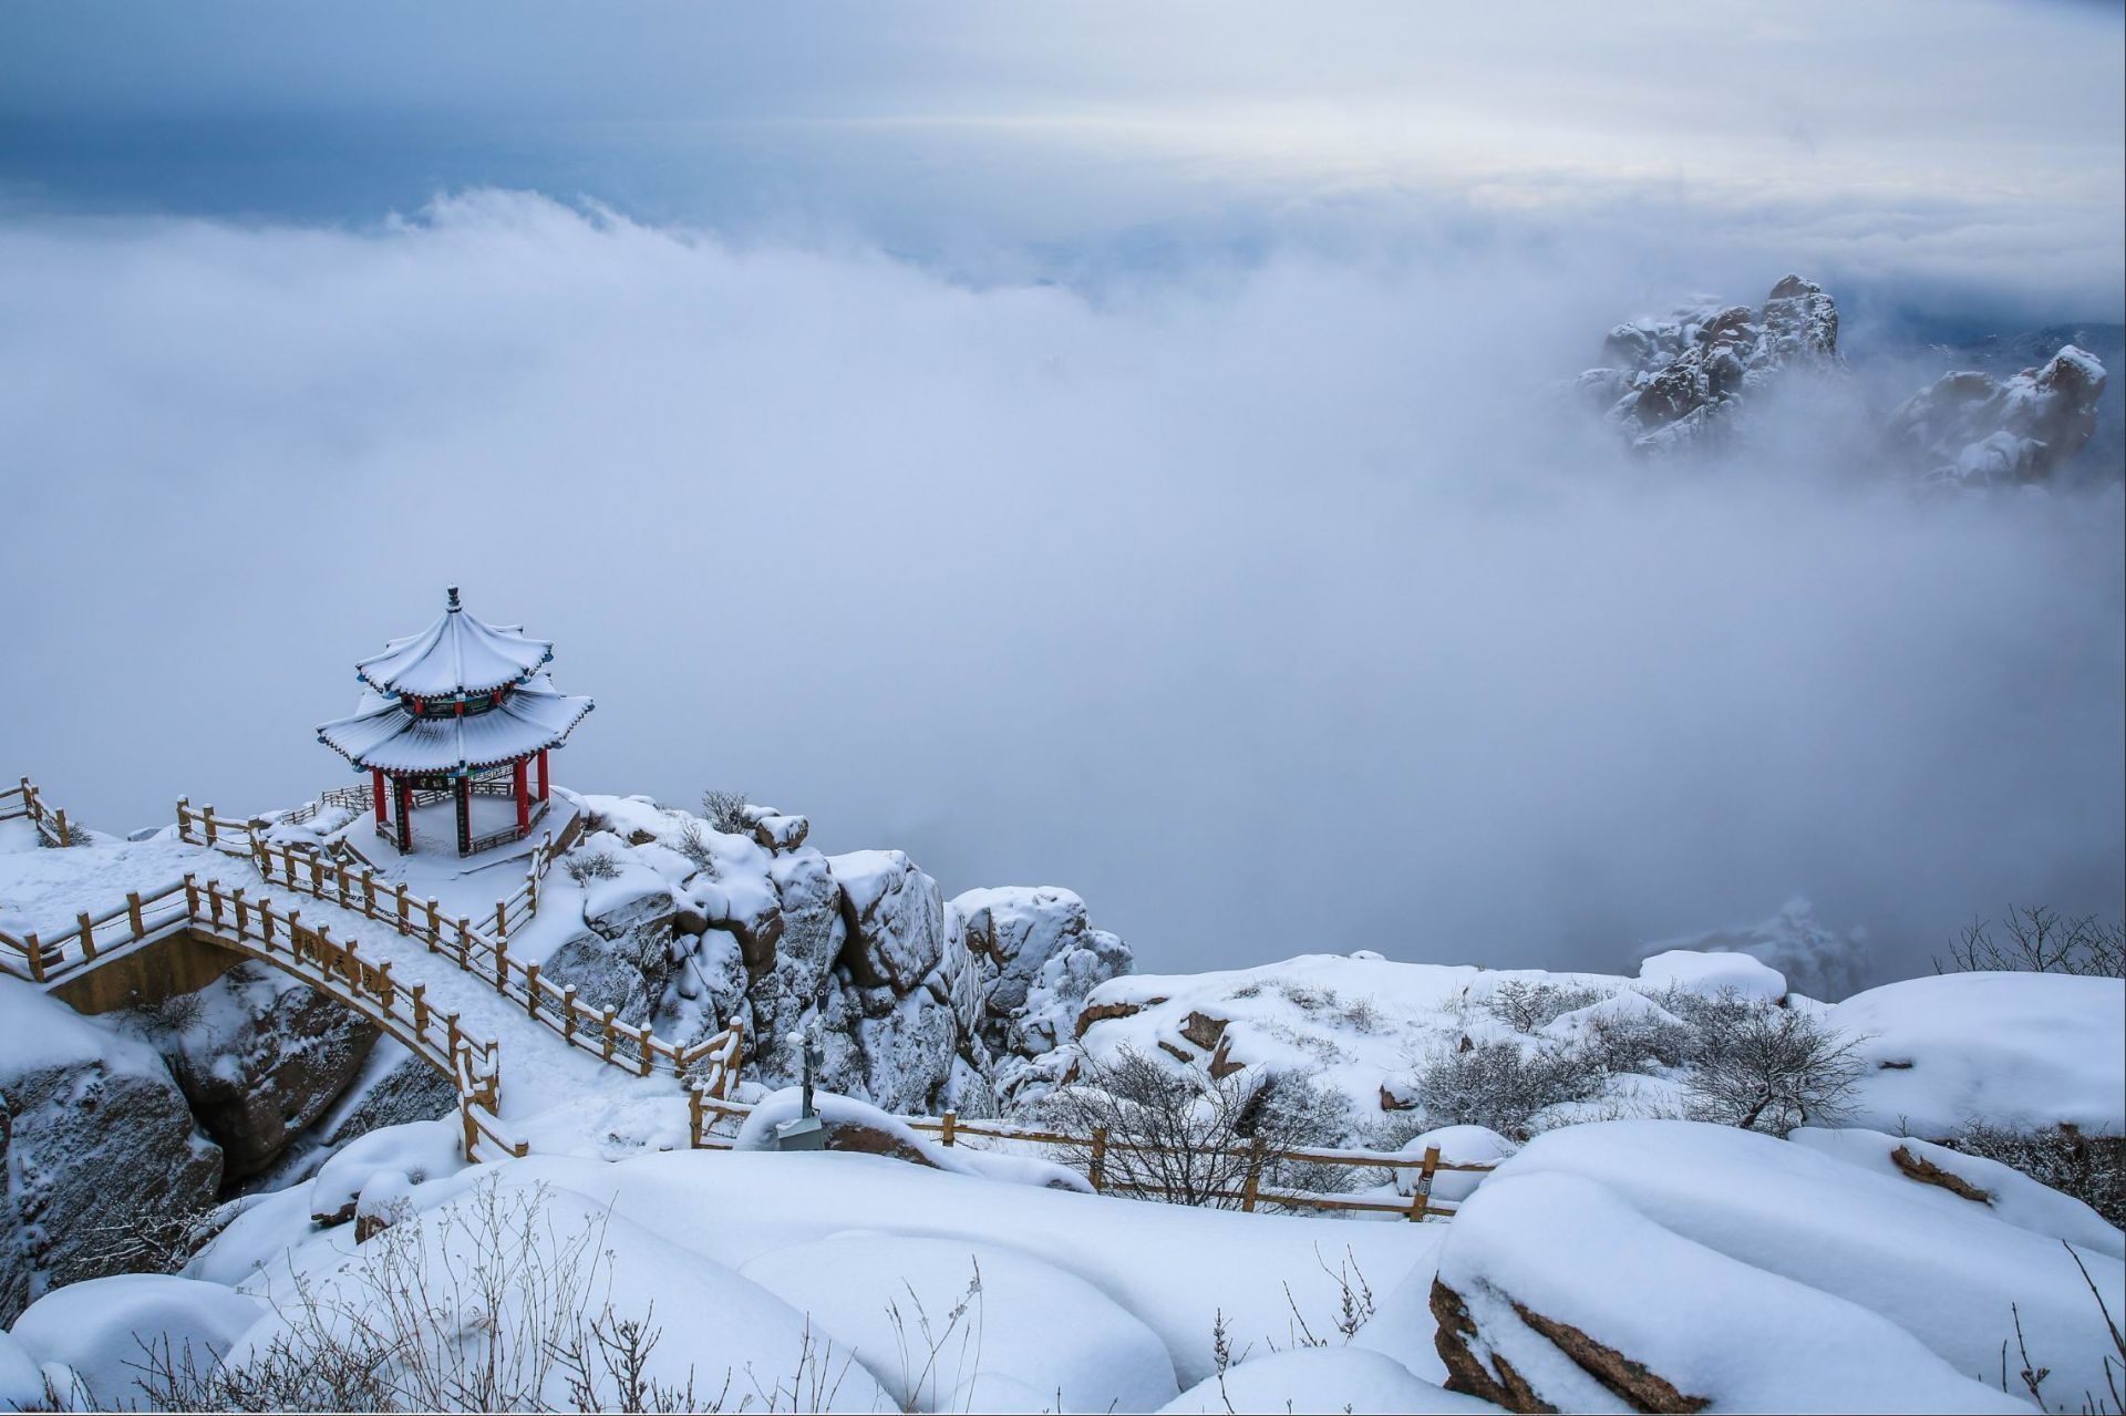
[[[1888,438],[1939,483],[2039,483],[2096,432],[2103,391],[2105,366],[2066,344],[2041,368],[2007,378],[1975,370],[1943,374],[1890,417]]]

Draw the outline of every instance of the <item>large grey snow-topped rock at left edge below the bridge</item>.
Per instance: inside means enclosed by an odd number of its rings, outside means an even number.
[[[145,1042],[0,978],[0,1322],[51,1286],[140,1267],[204,1214],[221,1148]]]

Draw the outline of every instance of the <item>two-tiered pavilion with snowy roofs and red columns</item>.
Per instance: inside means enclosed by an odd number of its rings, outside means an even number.
[[[546,814],[546,753],[593,708],[555,691],[551,659],[553,642],[523,625],[466,614],[453,585],[436,623],[355,665],[361,702],[321,723],[317,740],[370,774],[376,833],[400,850],[412,850],[415,810],[442,799],[457,804],[459,855],[521,840]],[[517,802],[514,825],[474,833],[474,797],[504,795]]]

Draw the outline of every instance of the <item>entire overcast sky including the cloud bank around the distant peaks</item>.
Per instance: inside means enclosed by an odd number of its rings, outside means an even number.
[[[2115,491],[1913,500],[1862,366],[1716,474],[1550,389],[1788,270],[2117,321],[2115,4],[0,13],[0,768],[342,780],[442,585],[561,780],[744,787],[1146,967],[1924,967],[2122,895]],[[28,574],[36,566],[38,574]]]

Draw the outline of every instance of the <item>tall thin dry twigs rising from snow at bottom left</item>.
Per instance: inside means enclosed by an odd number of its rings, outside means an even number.
[[[702,1393],[651,1378],[651,1314],[621,1316],[604,1225],[559,1231],[544,1186],[408,1218],[336,1278],[291,1274],[264,1346],[234,1363],[149,1344],[140,1388],[172,1412],[721,1412],[733,1376]],[[846,1373],[806,1337],[797,1369],[729,1410],[827,1410]]]

